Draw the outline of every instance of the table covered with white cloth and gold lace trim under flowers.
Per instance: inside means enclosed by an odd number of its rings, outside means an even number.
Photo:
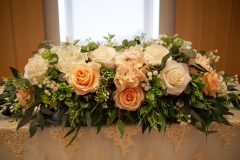
[[[3,87],[0,87],[0,93]],[[66,147],[73,135],[63,138],[60,125],[48,123],[29,138],[28,127],[16,131],[17,122],[0,116],[1,160],[239,160],[240,111],[227,119],[232,126],[212,123],[205,136],[194,127],[168,125],[165,133],[152,130],[142,134],[141,127],[126,124],[121,138],[116,125],[96,128],[82,127],[76,140]]]

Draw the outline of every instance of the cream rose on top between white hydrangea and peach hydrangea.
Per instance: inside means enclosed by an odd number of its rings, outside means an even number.
[[[113,68],[115,63],[116,51],[114,48],[107,46],[100,46],[92,52],[88,53],[88,56],[95,62],[99,62],[105,68]]]

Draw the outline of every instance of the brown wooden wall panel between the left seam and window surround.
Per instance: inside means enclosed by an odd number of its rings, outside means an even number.
[[[23,72],[31,52],[44,41],[42,0],[11,0],[17,68]]]

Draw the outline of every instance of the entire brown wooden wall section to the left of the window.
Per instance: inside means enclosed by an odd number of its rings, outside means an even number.
[[[0,77],[10,77],[45,39],[42,0],[0,0],[0,11]]]

